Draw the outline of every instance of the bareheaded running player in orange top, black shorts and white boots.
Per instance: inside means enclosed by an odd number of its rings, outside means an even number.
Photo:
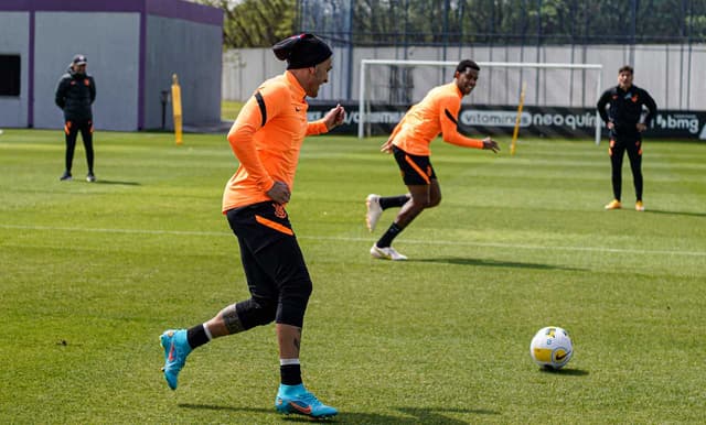
[[[407,257],[392,247],[393,240],[419,212],[441,201],[439,181],[429,161],[431,140],[441,134],[445,142],[458,146],[485,149],[495,153],[500,151],[498,143],[490,138],[469,139],[458,131],[461,99],[475,87],[479,72],[480,67],[473,61],[461,61],[456,67],[453,81],[432,88],[419,103],[413,106],[383,144],[381,151],[395,155],[409,193],[391,197],[367,196],[365,219],[370,231],[375,230],[383,210],[402,207],[385,235],[371,248],[374,258],[406,260]]]

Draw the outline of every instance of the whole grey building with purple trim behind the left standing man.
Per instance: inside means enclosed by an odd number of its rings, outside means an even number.
[[[54,94],[77,53],[96,79],[96,129],[161,127],[173,73],[184,124],[220,122],[222,31],[222,10],[182,0],[1,0],[0,54],[20,54],[22,76],[20,96],[0,98],[0,126],[62,128]]]

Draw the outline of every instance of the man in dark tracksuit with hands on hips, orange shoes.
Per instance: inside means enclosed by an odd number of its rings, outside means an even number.
[[[635,209],[644,211],[642,204],[642,135],[657,112],[650,94],[632,84],[633,69],[625,65],[618,70],[618,86],[609,88],[598,100],[598,113],[606,121],[610,145],[608,154],[612,167],[613,200],[606,209],[619,209],[622,185],[622,159],[625,151],[630,159],[632,179],[635,186]],[[607,108],[608,107],[608,108]],[[643,115],[643,108],[646,113]]]

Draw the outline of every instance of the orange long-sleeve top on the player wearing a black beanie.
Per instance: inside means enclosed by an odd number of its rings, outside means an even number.
[[[223,212],[271,200],[275,182],[292,189],[304,137],[328,131],[323,119],[308,122],[306,91],[289,70],[263,83],[228,132],[240,164],[223,193]]]

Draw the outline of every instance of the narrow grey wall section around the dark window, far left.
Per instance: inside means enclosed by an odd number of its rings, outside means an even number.
[[[29,101],[30,14],[0,12],[0,54],[20,55],[20,96],[0,96],[0,128],[25,127]]]

